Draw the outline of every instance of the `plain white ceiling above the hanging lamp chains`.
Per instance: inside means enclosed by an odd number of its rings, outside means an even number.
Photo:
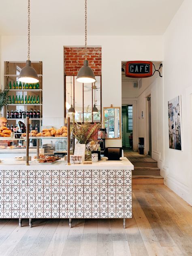
[[[84,35],[84,0],[31,0],[32,35]],[[88,35],[162,35],[183,0],[87,0]],[[0,35],[27,34],[28,0],[0,0]]]

